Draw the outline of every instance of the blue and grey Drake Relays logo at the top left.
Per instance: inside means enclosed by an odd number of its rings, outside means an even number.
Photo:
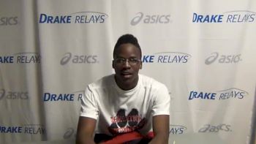
[[[75,12],[68,15],[39,14],[39,23],[105,23],[103,12]]]

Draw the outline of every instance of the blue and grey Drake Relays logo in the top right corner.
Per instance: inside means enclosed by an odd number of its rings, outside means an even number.
[[[219,14],[193,13],[192,23],[254,23],[256,12],[234,10]]]

